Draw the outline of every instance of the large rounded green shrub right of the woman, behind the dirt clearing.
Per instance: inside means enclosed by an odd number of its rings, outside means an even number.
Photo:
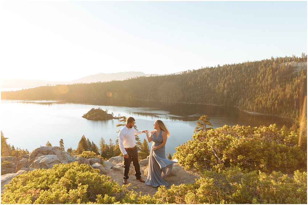
[[[200,171],[216,165],[266,173],[307,171],[307,148],[297,143],[298,133],[278,131],[275,124],[260,128],[225,125],[193,135],[176,148],[174,158],[185,168],[195,166]]]

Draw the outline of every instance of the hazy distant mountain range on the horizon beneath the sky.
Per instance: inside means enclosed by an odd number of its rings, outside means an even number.
[[[180,74],[182,72],[177,72],[175,74]],[[95,75],[90,75],[87,77],[82,77],[73,81],[44,81],[44,80],[27,80],[27,79],[4,79],[1,81],[1,88],[34,88],[39,86],[46,86],[49,85],[67,85],[67,84],[74,84],[74,83],[95,83],[98,81],[123,81],[127,78],[131,77],[138,77],[138,76],[151,76],[151,75],[158,75],[158,74],[145,74],[143,72],[120,72],[120,73],[98,73]]]

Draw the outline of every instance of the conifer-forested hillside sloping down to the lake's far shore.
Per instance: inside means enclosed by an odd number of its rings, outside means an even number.
[[[42,86],[1,92],[1,99],[139,99],[235,106],[299,120],[307,95],[307,55],[218,65],[179,75]]]

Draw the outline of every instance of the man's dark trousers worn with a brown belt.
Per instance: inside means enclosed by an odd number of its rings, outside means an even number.
[[[138,162],[138,150],[135,147],[135,149],[125,149],[125,151],[128,154],[128,158],[124,157],[124,177],[123,179],[128,179],[128,172],[129,172],[129,167],[131,166],[131,162],[133,162],[135,171],[136,171],[136,178],[140,179],[141,178],[141,172],[140,172],[140,165]]]

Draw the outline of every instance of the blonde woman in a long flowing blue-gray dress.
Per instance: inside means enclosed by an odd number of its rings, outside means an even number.
[[[149,131],[146,132],[148,142],[153,141],[153,144],[150,151],[148,179],[145,184],[153,187],[168,186],[164,177],[170,173],[173,163],[177,162],[166,159],[165,144],[167,136],[170,136],[166,125],[161,120],[156,120],[154,129],[151,131],[151,136]]]

